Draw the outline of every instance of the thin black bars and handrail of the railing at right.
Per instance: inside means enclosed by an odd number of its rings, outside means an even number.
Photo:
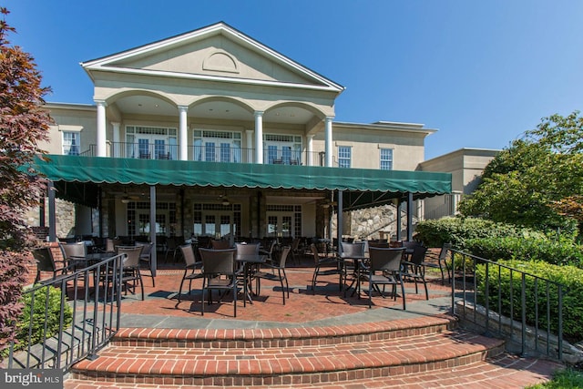
[[[476,307],[478,304],[478,288],[477,288],[477,280],[476,280],[476,276],[473,277],[473,288],[472,289],[468,289],[467,285],[466,285],[466,278],[468,275],[467,269],[466,269],[466,259],[470,259],[473,262],[474,265],[474,269],[476,269],[476,265],[478,264],[484,264],[486,266],[486,280],[485,280],[485,287],[484,287],[484,291],[486,292],[486,296],[484,296],[484,301],[486,306],[485,308],[485,314],[484,314],[484,325],[486,327],[486,333],[487,332],[491,332],[494,331],[495,333],[498,334],[502,334],[502,335],[506,335],[508,336],[508,333],[504,333],[503,332],[503,324],[502,324],[502,317],[505,315],[505,312],[503,312],[502,309],[502,288],[500,287],[500,284],[497,285],[497,299],[498,299],[498,303],[497,303],[497,312],[496,310],[492,310],[490,309],[490,299],[489,299],[489,281],[490,281],[490,277],[489,277],[489,267],[490,266],[495,266],[498,268],[497,274],[500,274],[500,270],[501,269],[506,269],[507,271],[510,271],[510,295],[512,296],[513,293],[513,272],[517,272],[520,275],[520,280],[521,280],[521,285],[520,285],[520,307],[519,312],[521,312],[521,318],[520,318],[520,339],[517,340],[516,338],[514,338],[514,324],[513,322],[516,322],[514,319],[514,301],[512,299],[512,297],[510,298],[510,333],[509,333],[509,338],[512,341],[515,341],[517,343],[520,343],[520,347],[521,347],[521,352],[522,354],[526,354],[527,353],[527,332],[528,332],[528,326],[533,326],[531,324],[527,324],[527,316],[526,316],[526,312],[527,312],[527,301],[526,301],[526,280],[527,277],[530,277],[532,279],[535,280],[535,285],[536,285],[536,291],[538,292],[538,282],[544,282],[547,285],[547,291],[546,291],[546,305],[547,305],[547,331],[546,331],[546,336],[542,336],[547,344],[546,348],[547,350],[542,351],[538,348],[538,338],[539,338],[539,318],[538,318],[538,312],[536,312],[536,322],[534,323],[534,339],[535,339],[535,346],[534,346],[534,352],[536,353],[543,353],[546,354],[547,356],[552,356],[551,353],[551,349],[550,349],[550,299],[549,299],[549,285],[555,285],[557,287],[557,359],[560,361],[563,359],[563,296],[566,293],[565,291],[567,291],[567,287],[566,285],[562,284],[561,282],[556,282],[550,279],[547,279],[545,277],[541,277],[537,274],[532,274],[529,273],[527,271],[523,271],[520,269],[516,269],[512,266],[508,266],[504,263],[500,263],[497,261],[490,261],[490,260],[486,260],[485,258],[482,257],[478,257],[476,255],[470,254],[468,252],[465,251],[458,251],[455,249],[449,249],[449,258],[451,261],[451,296],[452,296],[452,312],[455,316],[460,317],[463,316],[465,319],[471,319],[466,317],[465,315],[465,308],[466,308],[466,303],[469,301],[469,299],[467,299],[467,294],[471,293],[470,295],[472,295],[473,297],[473,303],[475,305],[474,308],[474,321],[475,323],[477,323],[477,319],[476,319]],[[455,256],[461,256],[462,257],[462,270],[461,270],[461,287],[458,285],[456,286],[456,282],[455,282]],[[474,271],[474,275],[476,275],[476,272]],[[501,281],[500,276],[498,276],[498,282]],[[463,310],[461,310],[462,312],[457,312],[456,310],[456,300],[460,300],[461,298],[461,305],[464,308]],[[537,306],[537,308],[539,307],[538,305],[538,293],[535,293],[535,304]],[[468,304],[469,305],[469,304]],[[496,327],[492,327],[490,325],[490,321],[492,321],[493,319],[490,318],[490,313],[494,313],[497,315],[498,317],[498,326]],[[482,324],[482,323],[479,323]]]

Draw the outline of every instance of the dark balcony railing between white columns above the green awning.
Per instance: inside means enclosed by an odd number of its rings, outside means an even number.
[[[187,148],[188,160],[224,163],[254,163],[255,148],[233,148],[225,146]],[[90,145],[89,149],[79,154],[81,157],[96,157],[97,145]],[[138,144],[125,142],[108,142],[107,157],[126,159],[166,159],[178,160],[179,147],[164,144]],[[290,149],[263,149],[263,163],[270,165],[302,165],[325,166],[323,151],[302,152]]]

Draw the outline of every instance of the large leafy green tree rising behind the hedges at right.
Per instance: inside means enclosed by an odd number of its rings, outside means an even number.
[[[465,216],[538,230],[572,230],[581,220],[573,201],[583,195],[583,118],[543,118],[536,129],[512,142],[484,170],[473,195],[460,203]],[[568,213],[558,204],[571,205]]]

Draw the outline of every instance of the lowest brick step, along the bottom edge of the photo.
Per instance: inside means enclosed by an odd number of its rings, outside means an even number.
[[[350,381],[320,382],[311,384],[267,384],[253,385],[256,389],[355,389],[355,388],[523,388],[527,385],[547,381],[547,377],[561,366],[547,360],[520,358],[503,353],[486,361],[468,363],[463,366],[448,367],[428,372],[397,374],[394,376],[377,376],[370,378],[354,378]],[[173,389],[204,389],[208,385],[180,384],[133,384],[114,381],[90,381],[68,379],[66,389],[97,389],[97,388],[173,388]],[[232,389],[249,388],[249,385],[230,385]]]

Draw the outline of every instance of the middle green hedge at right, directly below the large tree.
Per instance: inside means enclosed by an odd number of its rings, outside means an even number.
[[[545,261],[583,269],[583,248],[573,241],[552,241],[541,236],[486,238],[465,241],[465,250],[490,261]]]

